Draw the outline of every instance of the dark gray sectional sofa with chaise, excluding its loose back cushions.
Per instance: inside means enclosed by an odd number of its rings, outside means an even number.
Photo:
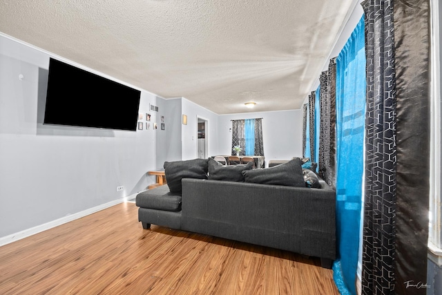
[[[269,169],[273,170],[253,173],[285,171]],[[166,180],[167,174],[166,169]],[[323,267],[332,266],[336,197],[324,181],[320,180],[320,189],[198,178],[182,178],[180,183],[181,192],[164,185],[137,195],[144,229],[155,224],[249,242],[320,257]]]

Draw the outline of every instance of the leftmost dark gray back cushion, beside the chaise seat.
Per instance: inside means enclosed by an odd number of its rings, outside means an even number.
[[[183,178],[207,179],[207,159],[164,162],[164,174],[171,193],[181,193]]]

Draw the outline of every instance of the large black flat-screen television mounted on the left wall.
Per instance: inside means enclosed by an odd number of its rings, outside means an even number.
[[[50,58],[44,124],[135,131],[140,94]]]

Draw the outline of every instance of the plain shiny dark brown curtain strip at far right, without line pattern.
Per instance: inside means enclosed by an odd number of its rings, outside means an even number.
[[[397,98],[396,294],[427,292],[421,285],[427,281],[430,198],[429,2],[394,1]]]

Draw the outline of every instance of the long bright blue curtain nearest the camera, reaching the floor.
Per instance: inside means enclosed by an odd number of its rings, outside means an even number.
[[[340,294],[356,294],[365,131],[364,18],[336,59],[336,237]]]

